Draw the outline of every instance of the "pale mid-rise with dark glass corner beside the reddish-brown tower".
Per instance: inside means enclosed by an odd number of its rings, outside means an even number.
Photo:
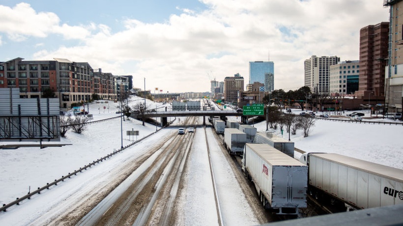
[[[346,60],[330,66],[330,93],[354,94],[358,90],[359,60]]]

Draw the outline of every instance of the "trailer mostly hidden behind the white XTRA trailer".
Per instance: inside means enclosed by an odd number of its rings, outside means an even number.
[[[257,132],[255,143],[268,143],[270,146],[294,158],[294,142],[280,138],[272,133]]]

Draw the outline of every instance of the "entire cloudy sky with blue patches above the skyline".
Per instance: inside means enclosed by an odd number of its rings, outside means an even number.
[[[67,58],[134,86],[210,91],[248,62],[274,61],[275,89],[304,85],[312,55],[359,59],[383,0],[0,0],[0,61]]]

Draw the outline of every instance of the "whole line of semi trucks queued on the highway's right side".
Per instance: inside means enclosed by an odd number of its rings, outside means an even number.
[[[224,146],[242,155],[245,176],[271,212],[299,215],[308,194],[352,209],[403,204],[403,169],[334,153],[297,160],[293,142],[230,120],[226,125]]]

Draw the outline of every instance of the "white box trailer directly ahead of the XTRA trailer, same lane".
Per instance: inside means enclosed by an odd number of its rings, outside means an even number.
[[[246,133],[234,129],[224,129],[224,146],[230,154],[242,154],[246,143]]]

